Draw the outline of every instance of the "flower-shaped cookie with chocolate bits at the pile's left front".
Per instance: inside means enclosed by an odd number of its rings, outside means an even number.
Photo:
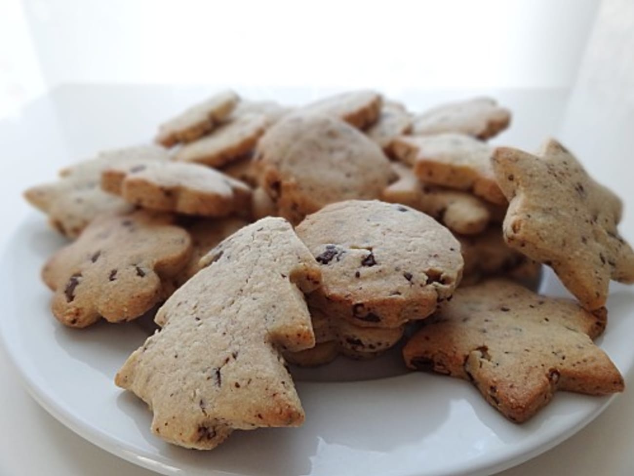
[[[51,257],[42,279],[55,292],[63,324],[86,327],[138,318],[167,297],[171,278],[190,259],[188,233],[171,215],[145,210],[94,219],[77,241]]]

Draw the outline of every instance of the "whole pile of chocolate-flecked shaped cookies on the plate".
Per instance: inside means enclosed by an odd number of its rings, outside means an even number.
[[[52,312],[74,328],[155,312],[115,383],[197,449],[301,425],[287,362],[403,340],[408,368],[472,382],[515,422],[557,389],[620,392],[593,339],[609,281],[634,282],[621,201],[555,140],[486,143],[509,123],[489,98],[415,114],[375,91],[295,108],[217,93],[157,145],[25,192],[74,240],[42,271]],[[534,293],[542,265],[577,300]]]

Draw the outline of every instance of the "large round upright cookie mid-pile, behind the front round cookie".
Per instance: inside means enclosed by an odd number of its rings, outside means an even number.
[[[326,115],[280,120],[259,142],[256,161],[264,190],[293,223],[328,203],[378,198],[393,174],[375,143]]]

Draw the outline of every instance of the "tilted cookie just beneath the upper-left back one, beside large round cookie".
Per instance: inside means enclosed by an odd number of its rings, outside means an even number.
[[[262,114],[240,115],[212,134],[183,145],[174,158],[181,162],[223,167],[254,150],[257,139],[268,125],[268,119]]]

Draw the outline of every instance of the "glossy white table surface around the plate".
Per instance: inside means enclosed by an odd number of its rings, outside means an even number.
[[[634,167],[629,162],[634,150],[633,134],[602,132],[598,112],[605,101],[593,103],[578,90],[487,91],[515,112],[512,129],[497,143],[536,148],[547,135],[558,135],[567,146],[582,154],[586,167],[599,179],[611,176],[610,185],[629,202],[624,217],[626,238],[632,240]],[[583,92],[583,91],[582,91]],[[0,174],[3,200],[0,204],[3,231],[0,250],[7,236],[29,213],[20,192],[30,184],[52,179],[60,165],[87,157],[94,151],[150,139],[155,123],[190,100],[202,96],[205,88],[164,86],[63,86],[27,106],[18,117],[0,122],[3,156]],[[251,94],[263,97],[258,91]],[[481,91],[420,93],[403,91],[401,99],[413,109],[434,100],[463,97]],[[581,95],[580,95],[581,94]],[[302,91],[266,91],[266,96],[304,98]],[[621,120],[618,131],[634,131],[631,103],[610,104]],[[588,110],[590,108],[590,110]],[[593,109],[592,109],[593,108]],[[587,118],[587,119],[586,119]],[[595,124],[595,122],[597,124]],[[628,122],[629,121],[629,122]],[[590,138],[585,131],[592,127]],[[598,131],[597,131],[598,129]],[[603,139],[605,138],[605,139]],[[619,154],[623,174],[614,179],[602,169],[598,154]],[[2,316],[15,318],[15,316]],[[632,375],[626,382],[632,382]],[[84,441],[49,416],[23,390],[8,359],[0,351],[0,476],[13,475],[112,475],[154,474],[106,453]],[[500,473],[505,476],[536,474],[629,475],[634,473],[634,394],[619,396],[614,403],[571,439],[534,460]]]

